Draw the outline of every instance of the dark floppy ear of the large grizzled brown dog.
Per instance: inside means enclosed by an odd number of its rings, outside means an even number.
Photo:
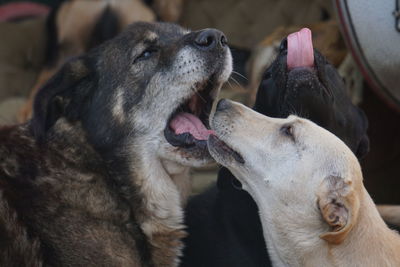
[[[35,138],[43,141],[47,131],[60,118],[71,103],[87,96],[93,68],[89,60],[79,57],[67,62],[38,92],[33,104],[31,129]],[[77,105],[78,106],[78,105]],[[72,110],[72,115],[77,110]]]

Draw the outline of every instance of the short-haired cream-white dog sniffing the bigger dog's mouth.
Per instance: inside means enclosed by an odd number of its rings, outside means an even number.
[[[221,100],[211,155],[256,201],[274,266],[400,266],[400,236],[365,190],[360,165],[313,122]]]

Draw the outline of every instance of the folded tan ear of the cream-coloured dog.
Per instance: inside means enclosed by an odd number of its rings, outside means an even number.
[[[322,181],[318,193],[318,207],[330,230],[320,237],[332,244],[340,244],[357,220],[360,207],[350,180],[328,176]]]

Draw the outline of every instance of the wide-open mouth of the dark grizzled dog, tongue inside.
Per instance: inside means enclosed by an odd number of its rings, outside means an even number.
[[[207,139],[213,133],[209,127],[209,116],[214,102],[213,86],[206,82],[170,116],[164,135],[176,147],[206,148]]]

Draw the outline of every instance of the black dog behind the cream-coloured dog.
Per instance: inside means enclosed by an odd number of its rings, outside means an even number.
[[[317,51],[315,67],[286,66],[287,42],[265,72],[254,109],[286,118],[306,117],[341,138],[362,158],[369,149],[364,113],[346,95],[337,71]],[[181,266],[271,266],[258,209],[250,195],[226,169],[217,185],[193,197],[186,208],[189,235]]]

